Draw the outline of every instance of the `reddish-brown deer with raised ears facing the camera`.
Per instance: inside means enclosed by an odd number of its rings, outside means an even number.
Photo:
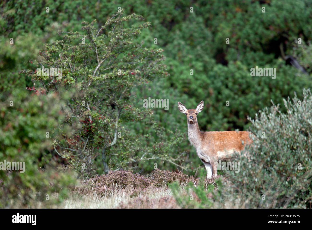
[[[201,101],[196,109],[187,109],[185,105],[178,102],[178,109],[187,117],[188,140],[204,163],[208,180],[217,176],[218,160],[232,159],[235,152],[241,152],[246,144],[251,144],[253,141],[250,138],[252,134],[248,131],[200,131],[197,115],[203,108],[204,101]]]

